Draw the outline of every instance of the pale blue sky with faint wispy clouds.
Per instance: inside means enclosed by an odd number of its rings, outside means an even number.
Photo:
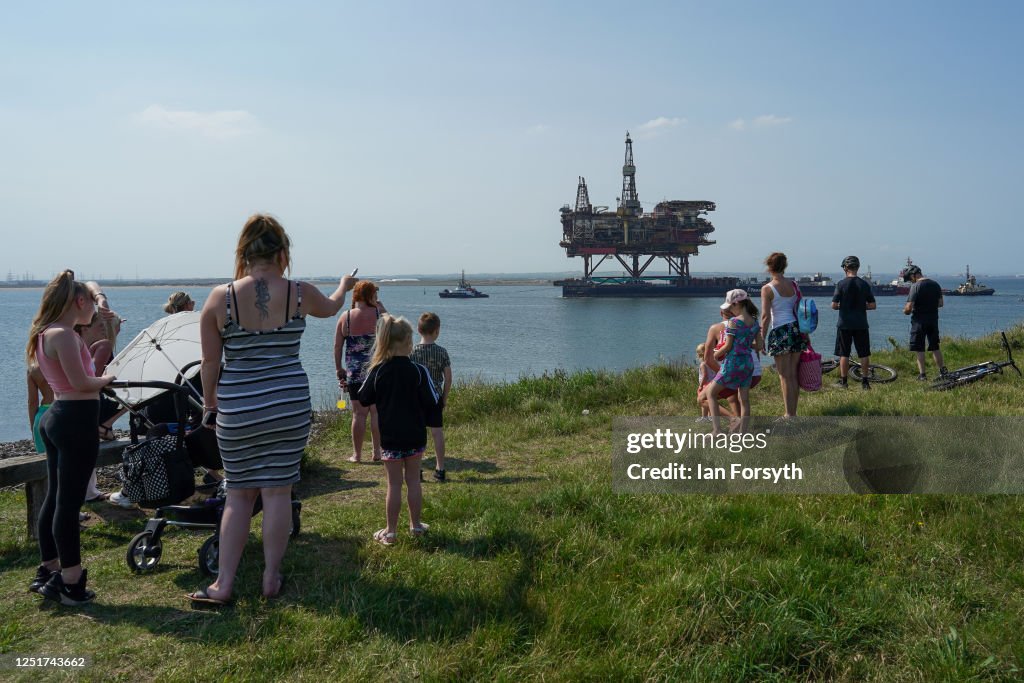
[[[694,270],[1024,272],[1020,2],[53,2],[0,22],[0,269],[572,270],[586,176],[718,203]]]

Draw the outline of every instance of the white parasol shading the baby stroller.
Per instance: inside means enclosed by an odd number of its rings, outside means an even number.
[[[119,382],[175,382],[199,373],[203,357],[199,336],[199,311],[182,311],[162,317],[138,333],[121,349],[106,370]],[[190,385],[188,385],[190,386]],[[137,405],[163,392],[154,388],[114,390],[126,405]],[[195,389],[193,390],[194,393]],[[203,400],[202,396],[194,398]]]

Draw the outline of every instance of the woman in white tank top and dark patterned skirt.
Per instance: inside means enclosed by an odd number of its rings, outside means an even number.
[[[767,331],[765,348],[775,359],[779,384],[782,389],[784,417],[797,415],[800,399],[800,353],[807,349],[807,340],[797,325],[797,301],[799,294],[796,284],[784,276],[785,254],[773,252],[765,259],[771,281],[761,288],[761,330]]]

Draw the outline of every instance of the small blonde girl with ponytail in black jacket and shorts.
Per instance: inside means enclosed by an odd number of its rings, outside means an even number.
[[[420,521],[423,489],[420,459],[427,446],[427,427],[437,424],[437,390],[430,373],[409,359],[413,351],[413,326],[403,317],[382,315],[370,372],[359,389],[364,405],[377,405],[381,427],[381,459],[387,472],[387,526],[374,540],[393,546],[401,510],[401,482],[406,481],[410,531],[422,536],[428,525]]]

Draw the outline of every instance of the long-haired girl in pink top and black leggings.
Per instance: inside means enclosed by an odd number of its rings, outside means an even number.
[[[66,605],[95,597],[85,585],[78,513],[99,454],[99,390],[114,378],[95,377],[75,326],[92,318],[99,295],[61,272],[43,292],[26,346],[26,360],[39,366],[55,397],[39,426],[48,478],[37,528],[42,563],[29,590]]]

